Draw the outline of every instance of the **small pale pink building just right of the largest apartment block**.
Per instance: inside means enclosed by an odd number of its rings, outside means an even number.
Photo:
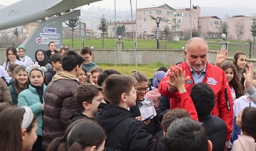
[[[221,19],[217,16],[198,17],[198,33],[202,37],[220,38]]]

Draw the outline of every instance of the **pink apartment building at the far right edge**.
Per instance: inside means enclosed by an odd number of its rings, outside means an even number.
[[[236,15],[228,17],[228,39],[253,40],[251,26],[256,23],[256,14],[252,16]]]

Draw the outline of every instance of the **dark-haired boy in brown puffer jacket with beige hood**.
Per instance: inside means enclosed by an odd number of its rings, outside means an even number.
[[[73,114],[81,112],[73,91],[79,85],[77,77],[81,74],[83,61],[84,58],[75,50],[67,50],[61,59],[64,71],[57,72],[47,85],[44,95],[44,139],[42,143],[44,150],[54,138],[64,135],[68,126],[67,120]]]

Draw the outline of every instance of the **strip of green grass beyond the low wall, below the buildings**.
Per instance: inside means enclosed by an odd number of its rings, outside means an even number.
[[[118,41],[118,40],[117,40]],[[123,48],[134,48],[133,39],[122,39]],[[206,41],[212,41],[216,43],[208,43],[209,50],[220,49],[220,39],[206,39]],[[230,44],[246,44],[246,41],[235,41],[227,40]],[[84,39],[81,40],[81,47],[83,46]],[[186,45],[187,41],[167,41],[167,49],[181,49]],[[160,48],[165,49],[165,40],[159,40]],[[63,45],[69,46],[71,48],[71,39],[63,39]],[[85,46],[94,48],[102,48],[102,39],[86,39]],[[157,46],[157,40],[155,39],[137,39],[137,48],[139,49],[155,49]],[[74,39],[74,48],[80,48],[79,39]],[[104,39],[104,48],[115,48],[115,39]],[[246,48],[239,48],[235,46],[229,46],[229,50],[244,50]],[[249,49],[249,45],[248,45]],[[246,49],[246,50],[248,50]]]

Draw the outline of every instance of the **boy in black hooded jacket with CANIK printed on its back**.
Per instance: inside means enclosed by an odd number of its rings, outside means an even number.
[[[131,76],[112,74],[103,84],[103,92],[111,104],[100,103],[95,120],[107,133],[105,147],[125,151],[163,151],[163,137],[156,142],[145,124],[127,110],[135,105],[136,83]]]

